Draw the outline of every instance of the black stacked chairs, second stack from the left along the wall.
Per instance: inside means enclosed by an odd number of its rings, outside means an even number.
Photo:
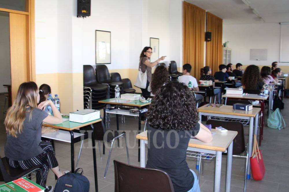
[[[114,88],[116,85],[119,86],[120,92],[123,93],[123,82],[122,81],[112,81],[110,73],[106,65],[96,65],[95,74],[97,81],[102,84],[109,86],[110,98],[114,98]]]

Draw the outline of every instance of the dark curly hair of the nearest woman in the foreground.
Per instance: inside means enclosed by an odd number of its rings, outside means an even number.
[[[168,81],[149,105],[146,114],[155,129],[184,131],[199,121],[196,100],[184,83]]]

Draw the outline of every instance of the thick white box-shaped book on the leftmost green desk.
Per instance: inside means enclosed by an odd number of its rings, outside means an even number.
[[[84,109],[80,111],[70,112],[69,121],[77,123],[86,123],[100,118],[100,111],[94,109]]]

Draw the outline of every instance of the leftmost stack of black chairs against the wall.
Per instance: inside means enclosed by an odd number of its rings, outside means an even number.
[[[109,98],[109,86],[97,82],[91,65],[83,66],[83,85],[84,109],[103,109],[105,104],[98,101]]]

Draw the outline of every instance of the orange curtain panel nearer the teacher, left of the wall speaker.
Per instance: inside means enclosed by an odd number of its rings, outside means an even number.
[[[191,75],[200,78],[204,66],[205,10],[183,3],[183,62],[192,66]]]

